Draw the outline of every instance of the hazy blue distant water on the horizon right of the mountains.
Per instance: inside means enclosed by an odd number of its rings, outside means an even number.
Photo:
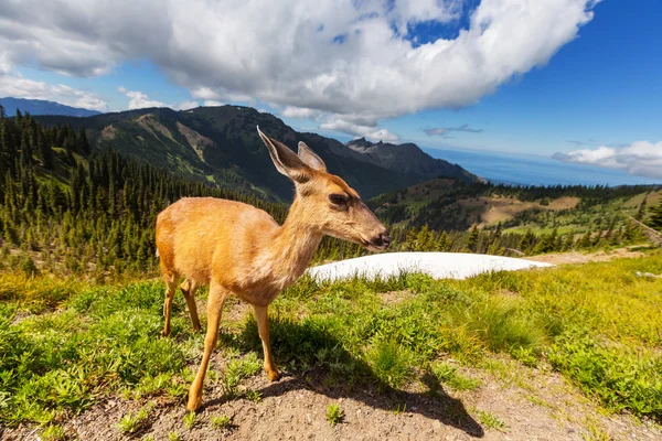
[[[494,183],[522,185],[623,185],[660,184],[662,180],[631,176],[623,170],[567,164],[533,154],[510,154],[459,150],[424,150],[433,158],[461,165]]]

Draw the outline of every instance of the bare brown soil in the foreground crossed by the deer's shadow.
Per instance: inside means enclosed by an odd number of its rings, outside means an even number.
[[[220,361],[215,359],[217,364]],[[499,361],[496,361],[499,362]],[[216,368],[216,367],[214,367]],[[220,386],[209,385],[205,405],[193,428],[183,423],[183,402],[156,399],[148,423],[127,437],[117,428],[128,411],[146,406],[117,397],[105,399],[72,419],[67,432],[79,440],[129,440],[151,435],[168,440],[659,440],[662,429],[623,415],[605,415],[580,392],[548,368],[513,368],[508,374],[484,369],[462,369],[479,378],[478,389],[469,392],[445,390],[428,381],[409,385],[406,390],[384,392],[371,387],[329,384],[324,372],[305,375],[285,373],[277,383],[264,375],[244,381],[244,390],[257,390],[254,402],[243,394],[226,400]],[[211,383],[211,381],[210,381]],[[338,404],[344,419],[331,426],[327,407]],[[491,428],[481,422],[487,412],[503,422]],[[214,416],[227,415],[232,424],[216,429]],[[38,440],[32,428],[7,430],[3,440]]]

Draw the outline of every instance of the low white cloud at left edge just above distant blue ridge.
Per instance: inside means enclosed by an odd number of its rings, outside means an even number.
[[[106,101],[98,98],[96,94],[75,89],[64,84],[51,85],[28,79],[18,74],[12,74],[9,68],[7,73],[2,73],[1,67],[0,58],[0,97],[46,99],[89,110],[108,110]]]

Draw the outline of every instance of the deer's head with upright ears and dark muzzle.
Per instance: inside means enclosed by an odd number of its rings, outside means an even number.
[[[371,251],[383,251],[391,237],[382,223],[361,201],[359,193],[339,176],[327,171],[327,165],[306,143],[299,142],[295,154],[284,143],[264,135],[257,128],[269,150],[276,169],[295,183],[297,196],[290,212],[307,227],[350,240]]]

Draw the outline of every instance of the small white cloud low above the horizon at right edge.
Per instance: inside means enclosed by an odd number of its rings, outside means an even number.
[[[634,176],[662,179],[662,142],[637,141],[628,147],[600,146],[569,153],[554,153],[558,161],[626,170]]]

